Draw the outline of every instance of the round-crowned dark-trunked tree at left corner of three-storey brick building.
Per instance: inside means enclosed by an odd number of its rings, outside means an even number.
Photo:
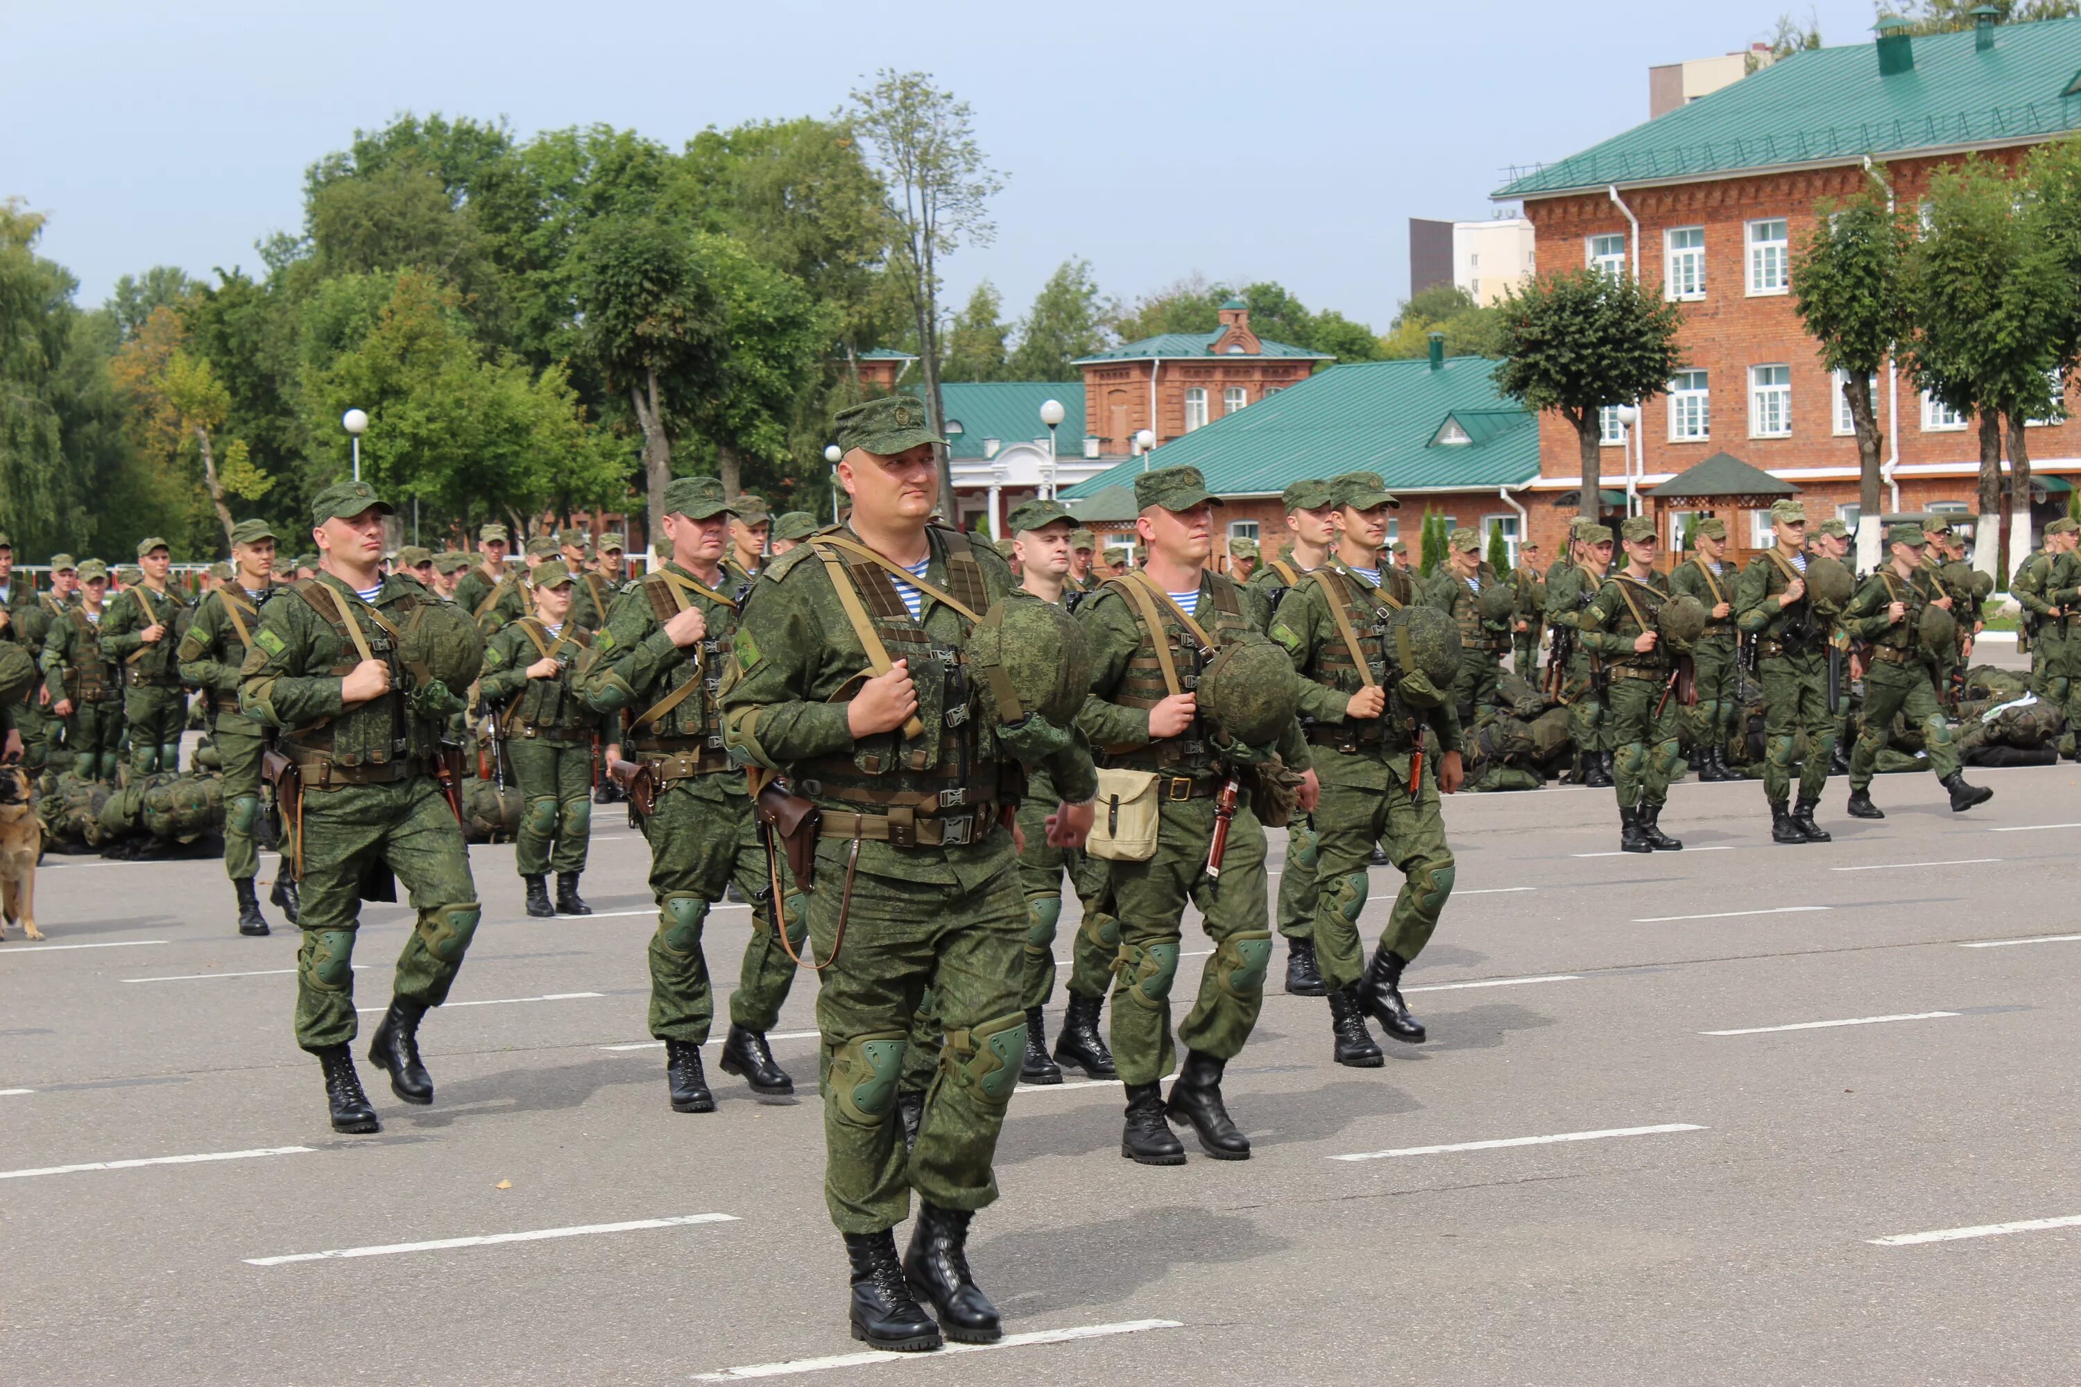
[[[1496,389],[1527,410],[1552,410],[1575,426],[1584,520],[1598,518],[1604,405],[1646,401],[1669,389],[1684,364],[1681,314],[1629,274],[1582,268],[1540,274],[1502,299]]]

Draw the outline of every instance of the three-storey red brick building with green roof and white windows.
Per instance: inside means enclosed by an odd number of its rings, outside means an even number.
[[[1802,489],[1808,516],[1858,516],[1858,453],[1840,383],[1823,370],[1790,293],[1790,264],[1819,206],[1877,181],[1917,206],[1935,168],[1967,152],[2019,160],[2081,127],[2081,21],[1798,52],[1752,77],[1496,191],[1519,200],[1546,268],[1638,272],[1684,308],[1686,370],[1625,430],[1604,420],[1602,489],[1646,491],[1727,451]],[[1975,420],[1881,368],[1883,507],[1977,509]],[[2069,401],[2073,403],[2073,399]],[[1632,437],[1627,437],[1632,435]],[[2081,476],[2081,422],[2058,412],[2027,437],[2033,530],[2064,512]],[[1627,457],[1632,453],[1632,457]],[[1532,534],[1557,541],[1575,514],[1575,430],[1540,418]],[[2006,485],[2006,482],[2004,482]],[[1613,509],[1623,514],[1623,497]],[[1767,518],[1729,518],[1744,549]],[[1673,516],[1681,524],[1681,516]]]

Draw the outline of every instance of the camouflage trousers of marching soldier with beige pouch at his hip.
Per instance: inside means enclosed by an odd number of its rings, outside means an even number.
[[[1157,850],[1147,863],[1109,863],[1120,919],[1113,982],[1113,1063],[1122,1083],[1155,1083],[1172,1071],[1170,992],[1178,977],[1184,907],[1192,902],[1213,940],[1199,998],[1178,1040],[1213,1058],[1234,1058],[1257,1025],[1271,963],[1265,919],[1265,830],[1249,807],[1236,811],[1222,859],[1222,888],[1207,882],[1213,799],[1163,801]],[[1365,848],[1371,853],[1371,844]],[[1317,913],[1319,917],[1319,913]]]

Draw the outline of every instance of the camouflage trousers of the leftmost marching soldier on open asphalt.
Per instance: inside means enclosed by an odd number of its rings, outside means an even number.
[[[439,1006],[477,934],[477,884],[462,826],[431,776],[304,790],[304,909],[296,954],[296,1044],[354,1040],[354,932],[362,875],[387,867],[418,921],[397,954],[393,996]]]

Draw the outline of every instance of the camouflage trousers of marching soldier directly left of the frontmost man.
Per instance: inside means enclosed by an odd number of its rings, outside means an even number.
[[[701,927],[708,909],[722,900],[730,882],[751,902],[751,940],[745,944],[737,992],[730,994],[730,1021],[770,1031],[795,982],[795,961],[774,934],[766,848],[760,846],[751,819],[745,778],[718,771],[674,780],[658,796],[656,811],[643,819],[643,836],[651,846],[649,886],[658,898],[658,934],[649,944],[651,1036],[708,1042],[716,998],[708,986]],[[789,942],[799,952],[803,905],[799,892],[787,894]]]

